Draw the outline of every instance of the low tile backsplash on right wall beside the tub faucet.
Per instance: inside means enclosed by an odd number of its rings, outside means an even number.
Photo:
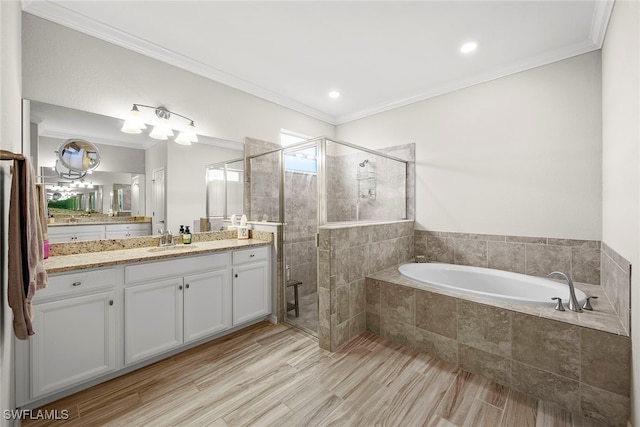
[[[602,287],[622,326],[631,332],[631,263],[602,243]]]

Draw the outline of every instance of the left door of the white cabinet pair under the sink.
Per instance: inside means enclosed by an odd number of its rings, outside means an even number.
[[[125,364],[182,344],[182,287],[170,279],[125,288]]]

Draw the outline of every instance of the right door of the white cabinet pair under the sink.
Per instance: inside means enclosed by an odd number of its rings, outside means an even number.
[[[184,341],[231,327],[231,280],[227,269],[184,278]]]

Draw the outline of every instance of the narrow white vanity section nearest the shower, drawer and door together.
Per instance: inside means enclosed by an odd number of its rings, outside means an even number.
[[[233,324],[271,313],[269,248],[233,252]]]

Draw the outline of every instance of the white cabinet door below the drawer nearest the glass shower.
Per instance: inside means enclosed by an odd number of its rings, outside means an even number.
[[[258,262],[233,268],[233,324],[271,312],[269,264]]]

